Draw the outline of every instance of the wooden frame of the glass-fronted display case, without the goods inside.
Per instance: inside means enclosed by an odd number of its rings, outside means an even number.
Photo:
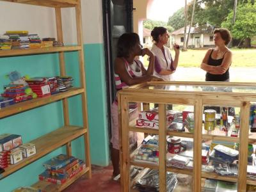
[[[189,86],[189,90],[186,90]],[[205,91],[204,88],[215,87],[217,91]],[[229,92],[223,88],[232,87]],[[192,88],[192,89],[191,89]],[[218,91],[219,89],[219,91]],[[246,90],[247,89],[247,90]],[[221,91],[222,90],[222,91]],[[246,90],[246,91],[244,91]],[[157,95],[157,97],[156,97]],[[147,106],[148,103],[159,104],[159,129],[135,127],[136,120],[129,122],[128,103],[137,102]],[[254,83],[212,83],[212,82],[152,82],[130,86],[118,92],[118,115],[120,121],[120,168],[121,190],[131,190],[129,167],[140,166],[159,170],[159,191],[165,191],[166,171],[183,173],[193,177],[194,192],[201,191],[202,179],[217,179],[237,182],[237,191],[245,192],[246,184],[256,185],[256,180],[247,179],[248,143],[255,143],[256,137],[249,136],[250,104],[256,102],[256,84]],[[166,127],[166,104],[188,105],[194,107],[195,129],[194,132],[173,132]],[[205,132],[202,125],[203,106],[232,106],[240,108],[240,131],[238,138],[218,135],[216,132]],[[129,131],[157,134],[159,136],[159,164],[134,161],[132,156],[136,151],[129,152]],[[218,132],[218,131],[217,131]],[[193,138],[193,170],[180,169],[166,166],[166,136]],[[203,140],[230,141],[239,145],[239,174],[237,177],[221,176],[217,173],[202,172],[201,152]]]

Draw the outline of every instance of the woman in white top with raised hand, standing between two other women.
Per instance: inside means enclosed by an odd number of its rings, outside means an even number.
[[[161,77],[164,81],[172,81],[179,61],[179,45],[174,44],[175,58],[173,60],[170,50],[164,45],[168,43],[169,33],[164,27],[156,27],[151,31],[153,46],[151,51],[155,55],[154,75]]]

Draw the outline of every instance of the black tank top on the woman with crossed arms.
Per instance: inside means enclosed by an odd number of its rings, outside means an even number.
[[[213,50],[214,49],[212,49],[212,51]],[[212,65],[212,66],[221,65],[226,52],[224,53],[223,58],[221,58],[219,60],[212,59],[212,52],[211,52],[207,64]],[[205,75],[205,81],[227,81],[228,79],[229,79],[229,67],[228,67],[227,71],[225,72],[225,74],[215,75],[215,74],[210,74],[209,72],[207,72],[206,75]]]

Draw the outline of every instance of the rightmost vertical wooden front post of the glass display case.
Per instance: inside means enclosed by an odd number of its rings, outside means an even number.
[[[248,134],[249,134],[249,119],[250,119],[250,102],[241,103],[241,122],[239,135],[239,172],[238,172],[238,188],[237,191],[246,191],[246,176],[248,164]]]

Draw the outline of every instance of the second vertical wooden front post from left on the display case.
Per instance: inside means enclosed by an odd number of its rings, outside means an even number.
[[[159,191],[166,191],[166,104],[159,104]]]

